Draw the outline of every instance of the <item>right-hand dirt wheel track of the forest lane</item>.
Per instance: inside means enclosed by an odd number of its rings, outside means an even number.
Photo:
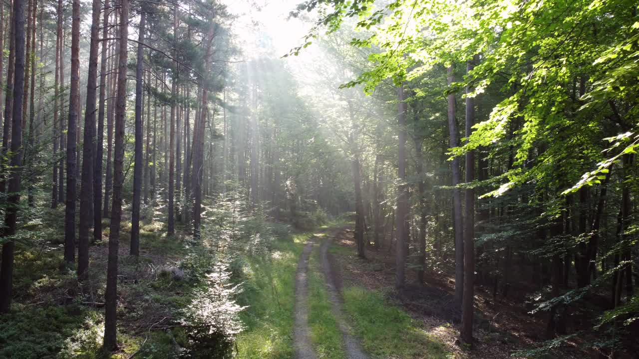
[[[334,231],[328,238],[323,240],[321,245],[321,266],[324,271],[324,277],[328,287],[329,299],[333,306],[333,314],[339,325],[339,330],[341,330],[344,337],[344,344],[346,346],[348,359],[369,359],[369,356],[364,354],[364,351],[362,351],[359,341],[351,335],[351,329],[344,320],[342,300],[339,294],[339,288],[337,287],[337,271],[333,265],[334,261],[330,260],[330,254],[328,253],[328,247],[330,247],[333,238],[335,238],[335,235],[340,231],[343,231],[343,229]]]

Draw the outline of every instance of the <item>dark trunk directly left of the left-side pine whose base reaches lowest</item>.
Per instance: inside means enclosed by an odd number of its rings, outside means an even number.
[[[102,38],[109,37],[109,0],[104,1]],[[104,155],[104,111],[107,91],[107,42],[102,41],[100,54],[100,105],[98,108],[98,133],[95,145],[95,168],[93,172],[93,240],[102,240],[102,157]]]

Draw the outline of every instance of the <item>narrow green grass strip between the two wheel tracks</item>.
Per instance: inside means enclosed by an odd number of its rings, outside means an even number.
[[[313,348],[318,358],[345,358],[342,334],[333,315],[324,275],[319,266],[319,248],[315,248],[309,259],[308,279],[309,327]]]

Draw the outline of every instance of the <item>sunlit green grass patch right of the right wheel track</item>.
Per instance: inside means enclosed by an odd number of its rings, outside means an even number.
[[[376,358],[452,358],[442,342],[404,310],[363,287],[344,289],[344,310],[364,350]]]

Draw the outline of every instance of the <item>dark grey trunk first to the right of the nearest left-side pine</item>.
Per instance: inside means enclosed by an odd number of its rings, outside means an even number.
[[[143,5],[142,5],[143,6]],[[131,256],[140,255],[140,204],[142,192],[142,63],[144,63],[144,27],[146,12],[140,15],[137,38],[137,65],[135,65],[135,164],[133,170],[133,213],[131,215]]]

